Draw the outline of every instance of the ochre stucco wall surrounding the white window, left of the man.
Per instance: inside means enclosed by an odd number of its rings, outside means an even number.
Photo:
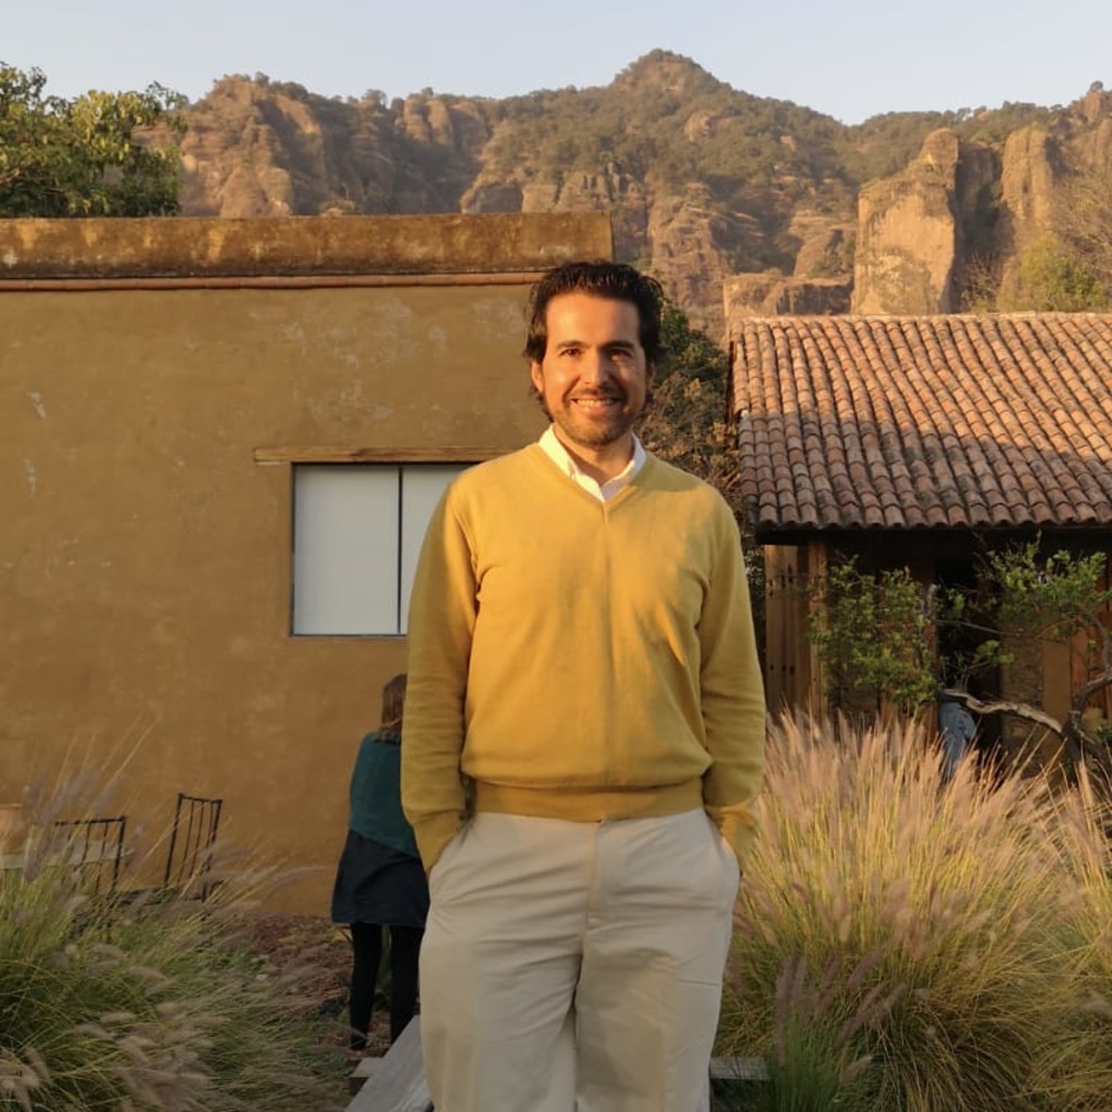
[[[563,228],[562,254],[608,254],[597,217]],[[291,468],[256,451],[534,437],[525,274],[554,260],[519,254],[493,284],[0,284],[0,801],[127,758],[138,848],[178,791],[222,796],[228,841],[312,870],[277,905],[327,913],[405,643],[290,635]]]

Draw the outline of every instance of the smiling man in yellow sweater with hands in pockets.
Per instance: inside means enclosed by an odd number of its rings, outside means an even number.
[[[632,267],[545,276],[552,425],[456,479],[421,549],[401,777],[437,1112],[706,1108],[765,707],[733,516],[633,431],[661,312]]]

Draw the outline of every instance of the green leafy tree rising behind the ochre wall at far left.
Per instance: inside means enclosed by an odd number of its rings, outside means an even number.
[[[0,62],[0,216],[163,216],[178,210],[183,98],[43,93],[40,70]]]

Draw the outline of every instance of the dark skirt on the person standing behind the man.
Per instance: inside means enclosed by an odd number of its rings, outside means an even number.
[[[332,922],[424,927],[427,916],[421,863],[349,830],[332,886]]]

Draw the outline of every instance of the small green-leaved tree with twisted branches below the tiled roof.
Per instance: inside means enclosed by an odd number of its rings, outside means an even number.
[[[840,707],[891,703],[907,712],[945,694],[979,714],[1013,714],[1044,726],[1072,761],[1088,756],[1112,773],[1109,745],[1083,722],[1085,707],[1112,687],[1105,566],[1104,553],[1048,553],[1040,539],[989,552],[975,587],[929,588],[905,568],[873,574],[853,558],[836,562],[813,587],[817,605],[808,628],[826,694]],[[934,645],[943,638],[970,647],[942,659]],[[1036,693],[1029,699],[969,693],[971,679],[1012,663],[1024,647],[1079,642],[1085,678],[1074,684],[1062,719],[1037,704]]]

